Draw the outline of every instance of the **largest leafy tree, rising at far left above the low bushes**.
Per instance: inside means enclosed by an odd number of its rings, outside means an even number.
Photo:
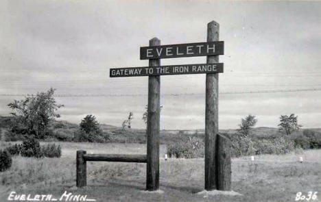
[[[14,127],[23,127],[28,135],[34,134],[36,138],[44,138],[49,123],[60,114],[56,110],[64,105],[58,105],[53,98],[56,89],[50,88],[47,92],[37,92],[36,96],[28,95],[25,99],[9,103],[14,112]]]

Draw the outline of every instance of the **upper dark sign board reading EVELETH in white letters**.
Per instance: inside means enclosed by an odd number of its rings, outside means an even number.
[[[224,41],[141,47],[141,60],[224,55]]]

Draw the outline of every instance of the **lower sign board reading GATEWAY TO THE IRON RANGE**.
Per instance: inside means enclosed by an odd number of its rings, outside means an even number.
[[[141,66],[110,68],[110,77],[141,77],[157,75],[188,75],[204,73],[223,73],[223,63],[182,64],[169,66]]]

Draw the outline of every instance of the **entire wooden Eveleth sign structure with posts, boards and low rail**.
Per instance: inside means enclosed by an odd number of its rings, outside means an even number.
[[[144,162],[146,190],[159,188],[160,145],[160,77],[159,75],[185,75],[206,73],[205,79],[205,142],[204,182],[205,190],[231,190],[230,140],[218,130],[218,79],[223,73],[223,63],[218,55],[224,55],[224,41],[219,40],[219,24],[207,24],[207,42],[179,45],[160,45],[152,38],[149,47],[141,47],[141,60],[150,60],[149,66],[110,68],[110,77],[148,77],[147,155],[86,155],[77,153],[77,186],[86,186],[86,160],[119,162]],[[206,64],[181,64],[160,66],[161,58],[207,56]],[[85,169],[85,170],[84,170]],[[84,172],[83,172],[84,171]],[[78,180],[79,179],[79,180]],[[84,179],[84,180],[82,180]]]

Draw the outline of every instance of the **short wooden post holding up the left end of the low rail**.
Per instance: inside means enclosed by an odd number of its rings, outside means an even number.
[[[76,157],[76,166],[77,166],[77,179],[76,179],[76,186],[83,187],[87,185],[86,179],[86,160],[84,160],[84,154],[86,151],[78,150],[77,157]]]

